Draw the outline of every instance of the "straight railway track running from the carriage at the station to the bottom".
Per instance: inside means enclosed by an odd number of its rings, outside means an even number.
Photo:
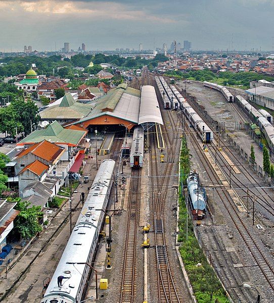
[[[124,249],[124,266],[120,303],[133,302],[135,293],[136,231],[140,215],[141,169],[132,169],[128,200],[127,232]]]

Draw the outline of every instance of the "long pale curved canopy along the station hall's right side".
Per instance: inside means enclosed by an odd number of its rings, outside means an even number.
[[[159,123],[163,125],[163,119],[159,108],[155,88],[151,85],[144,85],[141,92],[141,104],[139,123]]]

